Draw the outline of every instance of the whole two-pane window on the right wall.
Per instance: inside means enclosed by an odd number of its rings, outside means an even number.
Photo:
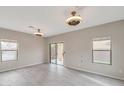
[[[110,37],[93,40],[93,62],[111,64],[111,39]]]

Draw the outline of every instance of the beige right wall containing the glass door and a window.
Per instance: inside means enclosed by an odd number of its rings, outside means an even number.
[[[92,39],[111,36],[112,65],[92,63]],[[47,38],[48,44],[64,41],[64,65],[124,79],[124,20]]]

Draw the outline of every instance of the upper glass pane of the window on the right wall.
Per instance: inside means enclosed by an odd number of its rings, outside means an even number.
[[[93,50],[110,50],[110,40],[93,41]]]

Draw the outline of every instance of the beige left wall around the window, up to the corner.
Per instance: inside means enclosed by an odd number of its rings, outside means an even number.
[[[46,62],[46,41],[43,37],[0,29],[0,39],[17,40],[18,60],[0,62],[0,72]]]

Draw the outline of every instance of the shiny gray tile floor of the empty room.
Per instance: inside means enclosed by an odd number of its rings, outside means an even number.
[[[0,73],[2,86],[123,86],[124,81],[54,64],[40,64]]]

